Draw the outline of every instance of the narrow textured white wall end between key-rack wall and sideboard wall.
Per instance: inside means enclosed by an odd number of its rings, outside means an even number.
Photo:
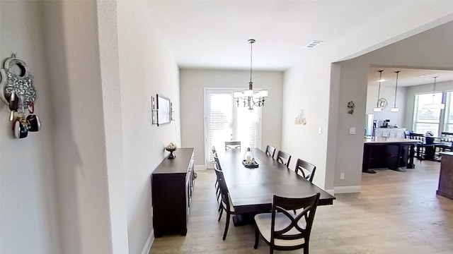
[[[122,117],[120,115],[120,70],[117,40],[117,4],[98,1],[98,40],[101,67],[102,102],[105,123],[105,157],[108,174],[109,211],[112,253],[129,253],[127,238],[127,203],[123,163]]]

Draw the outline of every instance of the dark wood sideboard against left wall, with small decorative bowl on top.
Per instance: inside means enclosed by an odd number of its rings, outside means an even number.
[[[194,183],[194,149],[178,148],[151,175],[154,236],[187,234]]]

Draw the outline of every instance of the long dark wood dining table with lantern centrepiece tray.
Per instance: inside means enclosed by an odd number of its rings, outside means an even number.
[[[242,164],[244,150],[217,151],[234,210],[256,214],[272,209],[273,195],[306,197],[321,193],[319,205],[332,205],[335,197],[288,169],[258,148],[252,148],[257,168]],[[236,223],[236,221],[235,221]]]

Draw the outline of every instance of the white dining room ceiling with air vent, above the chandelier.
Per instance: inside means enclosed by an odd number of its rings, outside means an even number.
[[[314,51],[355,37],[408,1],[147,1],[180,68],[285,71]],[[379,13],[379,15],[377,15]],[[398,13],[396,13],[398,14]],[[400,14],[401,15],[401,12]],[[314,49],[305,46],[323,41]],[[357,47],[348,42],[348,48]],[[362,50],[357,49],[356,52]]]

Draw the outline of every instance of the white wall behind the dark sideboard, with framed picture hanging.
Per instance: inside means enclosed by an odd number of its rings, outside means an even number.
[[[168,152],[180,147],[179,70],[154,28],[142,1],[117,3],[121,115],[129,252],[141,253],[154,237],[151,173]],[[171,99],[176,121],[151,125],[151,96]]]

